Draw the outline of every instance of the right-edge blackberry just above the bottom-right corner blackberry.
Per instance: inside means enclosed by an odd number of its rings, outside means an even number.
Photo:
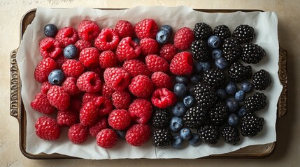
[[[266,106],[266,95],[264,93],[255,93],[253,95],[250,95],[245,100],[245,109],[248,112],[254,112],[259,111],[261,109],[264,109]]]

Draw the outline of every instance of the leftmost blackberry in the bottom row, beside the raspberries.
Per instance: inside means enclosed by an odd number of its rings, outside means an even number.
[[[152,134],[152,144],[155,147],[166,148],[172,141],[172,134],[169,129],[156,129]]]

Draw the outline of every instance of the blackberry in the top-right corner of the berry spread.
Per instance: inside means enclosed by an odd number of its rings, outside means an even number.
[[[255,38],[255,31],[252,26],[241,24],[234,29],[232,37],[236,38],[240,44],[250,43]]]

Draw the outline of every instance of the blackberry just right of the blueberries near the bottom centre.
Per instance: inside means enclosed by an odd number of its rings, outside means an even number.
[[[207,111],[200,106],[192,106],[185,112],[183,122],[187,127],[199,128],[208,118]]]

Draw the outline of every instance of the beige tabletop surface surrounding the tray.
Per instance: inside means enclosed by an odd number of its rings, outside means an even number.
[[[121,159],[89,161],[83,159],[32,160],[19,148],[18,123],[9,115],[10,107],[10,51],[20,42],[20,19],[38,6],[68,8],[131,8],[134,6],[190,6],[205,9],[260,9],[278,13],[280,46],[288,51],[288,107],[287,116],[278,122],[276,150],[264,159]],[[0,166],[300,166],[300,1],[72,1],[72,0],[0,0]]]

